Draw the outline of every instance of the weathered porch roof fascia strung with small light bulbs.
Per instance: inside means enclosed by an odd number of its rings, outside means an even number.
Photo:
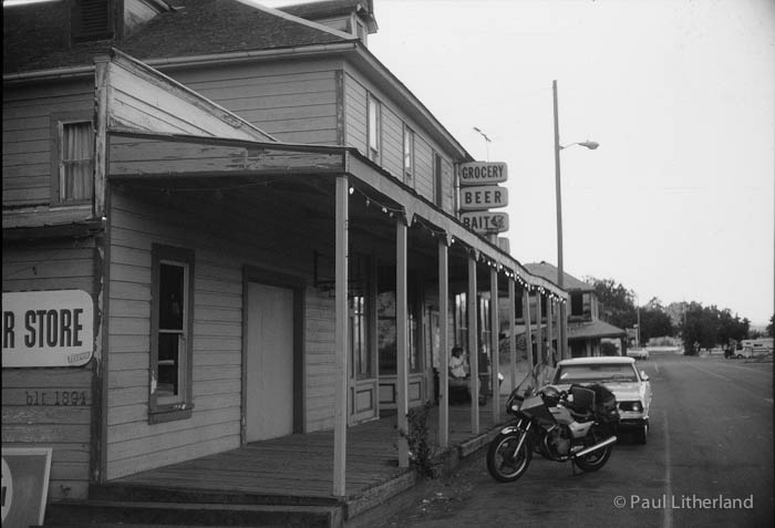
[[[313,185],[314,177],[348,175],[352,191],[373,198],[389,213],[402,215],[409,226],[415,221],[434,235],[446,237],[472,251],[480,262],[505,272],[531,288],[558,298],[567,293],[551,280],[531,275],[510,255],[468,230],[455,217],[437,208],[414,189],[399,182],[358,149],[342,146],[254,142],[179,134],[108,131],[107,177],[113,182],[142,180],[143,185],[180,185],[209,180],[215,184],[240,180],[298,180]],[[174,184],[172,184],[174,182]]]

